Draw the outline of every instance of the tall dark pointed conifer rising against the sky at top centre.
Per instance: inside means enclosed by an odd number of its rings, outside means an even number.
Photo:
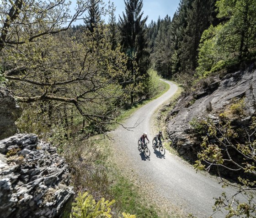
[[[119,15],[119,25],[121,33],[121,46],[128,56],[128,69],[131,71],[134,86],[136,76],[134,61],[139,68],[139,76],[145,76],[149,67],[149,52],[146,51],[146,28],[145,23],[148,17],[143,17],[141,12],[143,7],[142,0],[124,0],[125,13],[123,17]],[[131,93],[131,102],[134,101],[134,93]]]

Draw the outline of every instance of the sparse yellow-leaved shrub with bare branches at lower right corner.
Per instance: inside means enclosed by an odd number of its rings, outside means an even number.
[[[222,114],[222,117],[224,114]],[[245,131],[231,126],[231,122],[226,120],[215,125],[208,122],[208,132],[210,137],[204,137],[201,144],[201,152],[198,153],[198,160],[194,167],[197,170],[217,170],[219,177],[222,172],[229,172],[237,176],[237,183],[230,183],[222,179],[223,188],[235,187],[236,192],[232,197],[222,193],[219,198],[215,198],[213,211],[216,213],[227,212],[225,218],[231,217],[255,217],[255,185],[256,185],[256,118],[252,117],[251,125],[245,127]],[[220,171],[220,169],[222,169]],[[239,173],[239,174],[238,174]],[[242,200],[237,198],[242,193]],[[214,214],[213,213],[213,214]]]

